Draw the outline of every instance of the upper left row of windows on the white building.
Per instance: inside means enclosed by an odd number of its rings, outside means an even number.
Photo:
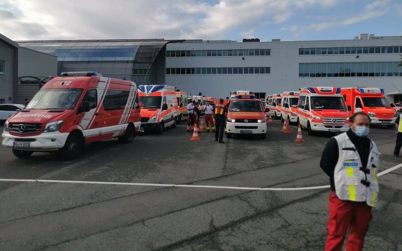
[[[166,57],[241,57],[270,55],[271,49],[166,51]]]

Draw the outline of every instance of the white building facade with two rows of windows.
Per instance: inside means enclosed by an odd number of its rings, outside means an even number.
[[[227,97],[252,90],[263,98],[305,86],[367,86],[402,101],[402,36],[361,34],[333,41],[186,41],[168,44],[166,84],[188,94]],[[390,100],[393,102],[394,100]]]

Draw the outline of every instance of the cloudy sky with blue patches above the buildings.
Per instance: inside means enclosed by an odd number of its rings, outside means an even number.
[[[402,0],[0,0],[13,40],[402,35]]]

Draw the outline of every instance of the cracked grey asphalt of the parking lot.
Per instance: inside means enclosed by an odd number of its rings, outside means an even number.
[[[331,135],[294,143],[268,125],[268,137],[216,144],[212,133],[191,142],[184,124],[134,142],[90,144],[75,161],[34,153],[16,159],[0,147],[0,178],[193,184],[242,187],[328,185],[319,167]],[[3,130],[3,128],[0,128]],[[371,128],[381,170],[395,131]],[[379,178],[378,207],[365,250],[402,250],[402,168]],[[0,182],[0,250],[322,250],[329,189],[252,191],[217,188]]]

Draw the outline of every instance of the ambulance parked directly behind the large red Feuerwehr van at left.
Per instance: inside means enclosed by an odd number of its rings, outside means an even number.
[[[138,86],[141,107],[140,131],[156,130],[163,133],[169,126],[176,127],[179,115],[176,88],[170,85]]]

